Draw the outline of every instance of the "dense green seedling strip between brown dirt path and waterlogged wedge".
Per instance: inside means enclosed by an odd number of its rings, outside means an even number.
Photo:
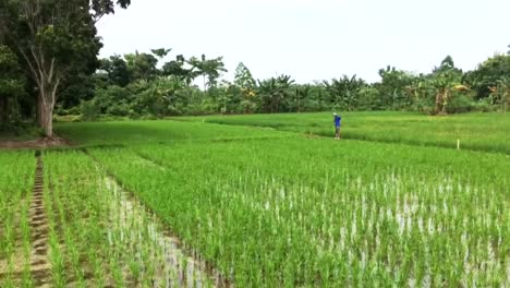
[[[45,155],[45,177],[53,286],[111,285],[118,267],[105,245],[110,219],[102,175],[82,153],[57,152]]]

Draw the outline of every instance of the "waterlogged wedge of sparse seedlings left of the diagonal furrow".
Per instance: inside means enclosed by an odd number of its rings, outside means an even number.
[[[122,247],[123,253],[131,253],[139,263],[136,274],[141,283],[150,279],[153,287],[228,286],[204,261],[186,254],[179,239],[112,178],[105,178],[104,187],[112,196],[109,244]],[[133,271],[132,265],[124,267],[124,274],[136,278]]]

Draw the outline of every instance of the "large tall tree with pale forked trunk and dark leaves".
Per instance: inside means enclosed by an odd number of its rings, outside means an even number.
[[[118,0],[126,8],[131,0]],[[52,113],[61,85],[92,74],[101,48],[96,22],[113,13],[114,0],[1,0],[0,33],[23,59],[37,86],[37,119],[53,135]]]

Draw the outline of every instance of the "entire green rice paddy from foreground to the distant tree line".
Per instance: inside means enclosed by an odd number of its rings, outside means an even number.
[[[0,152],[0,287],[510,287],[508,116],[177,120]]]

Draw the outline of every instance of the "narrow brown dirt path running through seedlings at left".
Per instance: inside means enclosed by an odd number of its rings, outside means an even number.
[[[28,212],[32,228],[31,273],[37,287],[49,287],[51,266],[48,261],[48,217],[44,205],[42,159],[37,158],[34,194]]]

